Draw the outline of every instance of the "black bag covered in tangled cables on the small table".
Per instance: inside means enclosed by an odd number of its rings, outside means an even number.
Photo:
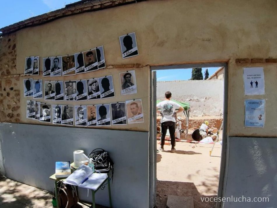
[[[111,178],[113,178],[113,160],[110,158],[107,151],[101,148],[97,148],[92,150],[92,152],[89,155],[87,155],[87,157],[92,158],[95,172],[107,174],[111,172]]]

